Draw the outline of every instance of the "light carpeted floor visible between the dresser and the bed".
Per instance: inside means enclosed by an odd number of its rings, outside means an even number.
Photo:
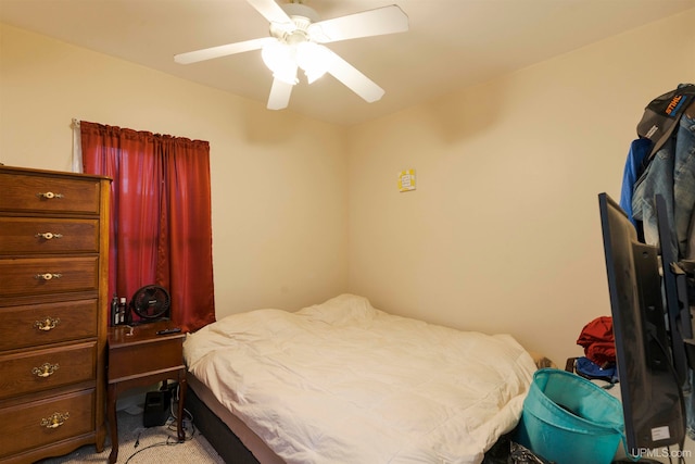
[[[207,440],[191,425],[184,421],[186,441],[179,443],[176,439],[176,423],[161,427],[142,426],[142,414],[118,412],[118,464],[176,464],[176,463],[218,463],[223,459],[210,446]],[[81,447],[74,452],[60,457],[39,461],[40,464],[59,463],[105,463],[111,453],[111,441],[106,438],[104,451],[97,453],[93,444]]]

